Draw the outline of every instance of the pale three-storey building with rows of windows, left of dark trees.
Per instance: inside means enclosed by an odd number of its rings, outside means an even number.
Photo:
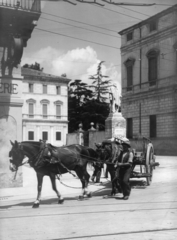
[[[66,144],[68,133],[68,83],[65,77],[22,68],[23,141],[47,140]]]

